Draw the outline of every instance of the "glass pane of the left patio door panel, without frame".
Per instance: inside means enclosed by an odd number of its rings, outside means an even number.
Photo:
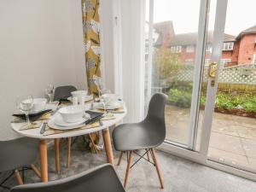
[[[150,96],[168,96],[166,140],[187,146],[191,138],[190,105],[195,73],[200,0],[154,1],[154,32]],[[184,6],[184,4],[186,6]],[[180,11],[183,10],[183,11]],[[184,16],[189,15],[188,17]],[[145,74],[146,77],[148,74]],[[148,91],[145,91],[148,94]],[[148,96],[148,97],[150,97]]]

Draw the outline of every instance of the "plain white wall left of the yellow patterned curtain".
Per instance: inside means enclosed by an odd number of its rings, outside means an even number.
[[[81,0],[1,0],[0,140],[16,137],[15,98],[47,84],[86,87]]]

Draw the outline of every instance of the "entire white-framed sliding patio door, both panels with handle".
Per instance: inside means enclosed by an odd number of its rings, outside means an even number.
[[[256,20],[247,18],[254,7],[249,0],[148,0],[145,15],[145,111],[155,92],[168,96],[160,148],[251,179]],[[248,10],[243,19],[241,10]]]

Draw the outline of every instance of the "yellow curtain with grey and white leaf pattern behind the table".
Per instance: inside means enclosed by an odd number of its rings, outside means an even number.
[[[101,77],[99,0],[82,0],[84,46],[88,89],[98,95],[93,75]]]

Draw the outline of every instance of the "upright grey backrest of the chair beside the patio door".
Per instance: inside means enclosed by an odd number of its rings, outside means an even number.
[[[165,121],[165,108],[168,96],[163,93],[156,93],[151,97],[148,104],[148,114],[143,120],[148,122],[151,129],[156,129],[159,136],[160,143],[164,142],[166,138],[166,121]]]

